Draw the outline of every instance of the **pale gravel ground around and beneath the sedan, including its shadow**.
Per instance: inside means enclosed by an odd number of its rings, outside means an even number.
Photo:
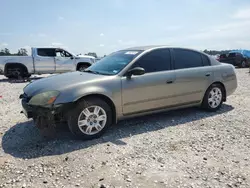
[[[26,83],[0,77],[0,187],[250,187],[250,75],[217,113],[196,108],[120,122],[100,139],[41,137],[20,114]]]

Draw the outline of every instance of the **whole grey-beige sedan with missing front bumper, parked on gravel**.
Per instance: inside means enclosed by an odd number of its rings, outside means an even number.
[[[92,139],[124,118],[191,106],[216,111],[236,88],[232,65],[196,50],[144,46],[34,81],[20,98],[40,129],[66,121],[74,135]]]

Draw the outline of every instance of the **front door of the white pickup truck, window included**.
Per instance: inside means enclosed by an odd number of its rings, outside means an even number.
[[[75,59],[63,49],[56,49],[55,63],[56,72],[67,72],[75,70]]]

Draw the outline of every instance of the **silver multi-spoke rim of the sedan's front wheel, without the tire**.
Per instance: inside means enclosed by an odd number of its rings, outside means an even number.
[[[87,135],[94,135],[100,132],[104,128],[106,122],[106,112],[100,106],[85,108],[78,117],[78,127]]]

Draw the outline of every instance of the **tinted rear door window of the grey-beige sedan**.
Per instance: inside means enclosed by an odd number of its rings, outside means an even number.
[[[201,54],[186,49],[174,49],[175,69],[203,66]]]

